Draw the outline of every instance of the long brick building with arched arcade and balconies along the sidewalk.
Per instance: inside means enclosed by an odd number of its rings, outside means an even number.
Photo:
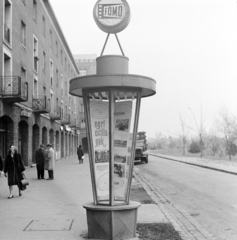
[[[0,154],[13,144],[26,166],[41,143],[57,159],[76,154],[79,99],[69,80],[79,70],[49,1],[1,1],[0,29]]]

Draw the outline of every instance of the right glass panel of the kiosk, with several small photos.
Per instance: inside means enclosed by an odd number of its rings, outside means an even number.
[[[131,174],[131,149],[136,93],[115,93],[114,106],[114,201],[125,203]]]

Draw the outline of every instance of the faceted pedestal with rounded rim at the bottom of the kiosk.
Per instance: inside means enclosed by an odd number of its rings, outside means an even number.
[[[101,206],[85,203],[88,237],[121,240],[136,236],[137,209],[141,204],[131,201],[129,205]]]

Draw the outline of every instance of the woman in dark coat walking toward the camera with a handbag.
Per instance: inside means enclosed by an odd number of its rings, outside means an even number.
[[[17,152],[13,145],[10,146],[10,151],[6,156],[4,173],[5,177],[8,179],[9,186],[9,199],[13,198],[13,186],[17,185],[19,189],[19,196],[21,196],[21,190],[24,190],[21,180],[23,180],[22,172],[25,171],[25,166],[21,159],[21,154]]]

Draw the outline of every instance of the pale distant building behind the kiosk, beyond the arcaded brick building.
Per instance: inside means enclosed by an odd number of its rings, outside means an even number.
[[[96,74],[96,54],[74,54],[74,59],[79,69],[80,76]],[[84,105],[82,99],[79,99],[79,126],[80,135],[79,141],[85,152],[88,152],[86,128],[85,128],[85,115]]]

